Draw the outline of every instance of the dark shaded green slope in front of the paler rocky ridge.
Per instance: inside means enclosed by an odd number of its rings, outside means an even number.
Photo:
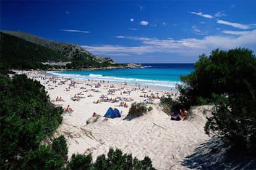
[[[69,59],[52,49],[0,32],[0,66],[16,67],[40,62],[66,62]]]

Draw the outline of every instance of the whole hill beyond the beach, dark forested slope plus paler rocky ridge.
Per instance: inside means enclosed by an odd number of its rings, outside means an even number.
[[[0,31],[0,38],[0,67],[42,68],[42,62],[69,62],[64,64],[67,68],[116,65],[112,59],[93,55],[75,44],[51,41],[20,31]]]

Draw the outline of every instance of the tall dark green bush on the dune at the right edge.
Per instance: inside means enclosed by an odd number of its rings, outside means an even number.
[[[216,49],[209,57],[200,55],[195,71],[181,79],[181,102],[215,104],[205,125],[207,134],[256,152],[256,57],[252,51]]]

